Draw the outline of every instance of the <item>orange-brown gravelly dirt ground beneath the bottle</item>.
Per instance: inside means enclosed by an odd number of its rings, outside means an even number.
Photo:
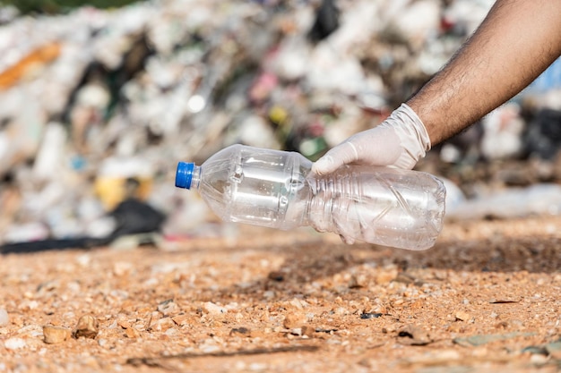
[[[560,371],[559,227],[447,223],[419,252],[244,226],[6,255],[0,372]]]

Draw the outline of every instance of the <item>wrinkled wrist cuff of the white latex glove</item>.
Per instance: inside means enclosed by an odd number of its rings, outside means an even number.
[[[431,148],[425,124],[407,104],[401,104],[380,125],[391,127],[400,139],[402,151],[401,156],[393,164],[395,167],[413,168]]]

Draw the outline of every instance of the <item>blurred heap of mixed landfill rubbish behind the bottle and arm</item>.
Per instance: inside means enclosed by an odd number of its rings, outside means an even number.
[[[235,235],[174,187],[177,161],[233,143],[316,159],[383,121],[492,3],[161,0],[34,16],[0,5],[0,244]],[[446,180],[450,219],[561,214],[560,142],[557,62],[417,168]]]

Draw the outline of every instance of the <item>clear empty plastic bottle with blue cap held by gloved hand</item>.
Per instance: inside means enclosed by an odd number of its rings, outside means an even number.
[[[444,219],[444,184],[431,174],[342,166],[311,173],[296,152],[232,145],[203,165],[180,162],[176,186],[198,189],[224,221],[289,230],[311,225],[343,241],[409,250],[434,245]]]

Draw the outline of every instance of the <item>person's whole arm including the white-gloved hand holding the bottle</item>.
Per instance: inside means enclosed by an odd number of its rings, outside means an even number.
[[[431,144],[514,97],[559,55],[561,2],[498,0],[444,69],[407,101],[412,114],[358,132],[319,159],[314,170],[329,174],[348,163],[412,168]]]

